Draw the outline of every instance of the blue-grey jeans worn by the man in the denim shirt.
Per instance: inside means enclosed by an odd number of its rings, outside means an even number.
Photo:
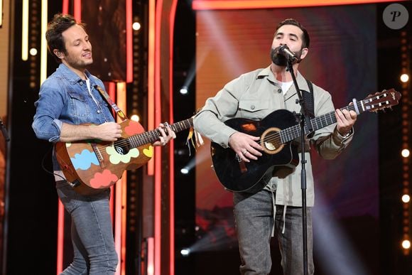
[[[56,187],[65,210],[72,217],[74,259],[62,274],[114,274],[118,258],[109,210],[110,190],[82,196],[64,181],[58,181]]]

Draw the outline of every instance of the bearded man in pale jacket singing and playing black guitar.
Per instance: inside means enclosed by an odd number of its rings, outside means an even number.
[[[227,83],[215,97],[207,99],[205,106],[195,116],[194,126],[200,134],[216,144],[223,148],[230,147],[237,154],[239,166],[242,166],[242,162],[256,161],[264,152],[260,137],[237,131],[224,122],[237,118],[259,121],[279,109],[299,113],[296,88],[291,72],[286,70],[287,60],[279,49],[287,46],[294,53],[296,62],[293,72],[300,90],[313,94],[315,117],[335,111],[337,119],[336,124],[319,129],[305,140],[308,271],[313,274],[311,207],[314,205],[314,190],[310,145],[315,147],[322,158],[335,158],[352,140],[352,126],[357,114],[346,109],[335,109],[330,93],[307,82],[300,74],[298,66],[308,55],[309,42],[308,31],[295,19],[279,23],[271,45],[271,65],[247,72]],[[300,153],[301,149],[298,151]],[[261,190],[234,193],[234,219],[242,274],[270,273],[270,240],[275,236],[281,251],[283,274],[303,274],[301,166],[300,163],[296,164],[298,166],[295,169],[277,167],[269,171],[269,180],[262,185],[264,188]]]

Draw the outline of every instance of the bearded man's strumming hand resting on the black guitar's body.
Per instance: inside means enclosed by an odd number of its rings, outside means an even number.
[[[238,131],[229,137],[229,146],[243,161],[250,162],[250,159],[256,161],[257,157],[262,155],[258,150],[263,150],[256,142],[259,139],[259,136],[251,136]]]

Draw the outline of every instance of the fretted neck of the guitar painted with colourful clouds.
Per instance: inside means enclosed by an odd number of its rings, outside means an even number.
[[[174,124],[170,124],[170,129],[172,129],[175,133],[179,131],[183,131],[185,129],[189,129],[193,126],[193,118],[185,119],[181,122],[176,122]],[[128,140],[130,145],[133,148],[142,146],[144,144],[152,144],[154,141],[157,141],[162,136],[161,131],[159,129],[154,129],[151,131],[145,131],[141,134],[136,134],[134,136],[129,136]]]

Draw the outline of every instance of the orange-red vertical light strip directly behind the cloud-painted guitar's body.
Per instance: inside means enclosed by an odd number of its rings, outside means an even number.
[[[116,84],[116,104],[117,106],[127,114],[126,110],[126,83],[118,82]],[[117,122],[121,122],[118,118]],[[119,267],[117,268],[116,275],[124,274],[126,267],[126,185],[127,174],[124,171],[121,180],[116,183],[116,200],[115,200],[115,222],[114,222],[114,240],[116,244],[116,252],[119,257]]]

